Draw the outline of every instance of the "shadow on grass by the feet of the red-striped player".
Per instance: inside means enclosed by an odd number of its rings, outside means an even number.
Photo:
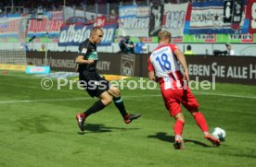
[[[168,136],[167,133],[165,133],[165,132],[159,132],[156,135],[151,135],[151,136],[147,136],[147,137],[149,137],[149,138],[158,138],[162,141],[167,141],[167,142],[171,142],[171,143],[173,143],[174,139],[175,139],[175,137]],[[202,147],[210,147],[210,146],[208,146],[208,145],[206,145],[202,142],[199,142],[197,140],[184,139],[184,141],[185,141],[185,143],[186,142],[192,142],[192,143],[197,144],[197,145],[202,146]]]

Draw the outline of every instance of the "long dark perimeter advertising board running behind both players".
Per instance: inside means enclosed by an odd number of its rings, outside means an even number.
[[[74,72],[77,53],[49,54],[48,65],[55,71]],[[97,70],[99,74],[113,74],[147,78],[148,54],[102,54],[99,53]],[[28,62],[35,66],[44,66],[45,54],[28,52]],[[191,80],[213,80],[225,83],[256,84],[256,57],[246,56],[188,56],[186,57]],[[121,66],[117,66],[121,65]],[[8,65],[9,66],[9,65]],[[1,68],[1,65],[0,65]]]

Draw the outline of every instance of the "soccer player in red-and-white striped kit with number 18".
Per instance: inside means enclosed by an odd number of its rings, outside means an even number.
[[[221,141],[209,133],[206,119],[198,111],[198,101],[186,85],[186,81],[189,81],[186,58],[178,46],[170,42],[171,33],[166,30],[160,31],[159,46],[148,58],[148,78],[160,83],[165,106],[175,119],[173,146],[175,149],[185,148],[182,137],[185,118],[180,103],[194,116],[204,137],[213,145],[219,146]],[[181,73],[178,62],[183,66],[184,74]]]

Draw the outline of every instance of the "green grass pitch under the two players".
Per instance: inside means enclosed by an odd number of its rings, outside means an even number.
[[[134,78],[137,79],[137,78]],[[160,89],[123,89],[130,113],[125,125],[113,104],[86,120],[82,134],[75,114],[96,99],[68,87],[42,89],[41,78],[0,74],[0,166],[245,167],[256,165],[256,86],[216,84],[193,90],[210,129],[224,128],[226,141],[213,147],[192,116],[186,118],[186,149],[173,149],[173,118]]]

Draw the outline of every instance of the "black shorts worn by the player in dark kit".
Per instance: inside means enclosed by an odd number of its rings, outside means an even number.
[[[91,97],[99,97],[110,87],[109,81],[99,76],[96,71],[83,71],[79,75],[79,80]]]

